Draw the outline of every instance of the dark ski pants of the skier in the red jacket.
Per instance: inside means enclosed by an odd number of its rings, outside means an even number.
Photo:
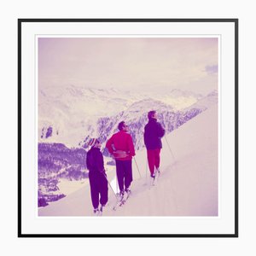
[[[125,189],[128,189],[132,182],[131,160],[115,160],[115,162],[119,190],[124,191],[124,185]]]

